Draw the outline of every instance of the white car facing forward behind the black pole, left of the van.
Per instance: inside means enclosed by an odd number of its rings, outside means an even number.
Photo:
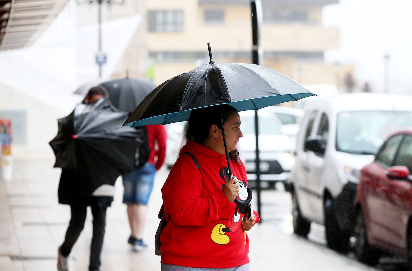
[[[286,134],[282,134],[279,120],[270,111],[258,110],[259,118],[259,160],[260,180],[262,188],[274,188],[276,182],[284,185],[289,179],[294,159],[290,155],[294,142]],[[239,139],[241,160],[245,163],[249,185],[256,186],[256,136],[255,111],[239,112],[243,137]]]

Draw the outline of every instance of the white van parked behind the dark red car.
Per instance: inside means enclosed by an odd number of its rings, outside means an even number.
[[[323,224],[328,246],[346,251],[359,171],[391,132],[412,127],[411,105],[412,96],[372,93],[307,101],[289,180],[296,234]]]

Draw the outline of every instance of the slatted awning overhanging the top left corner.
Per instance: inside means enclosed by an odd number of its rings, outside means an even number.
[[[69,0],[0,0],[0,51],[33,44]]]

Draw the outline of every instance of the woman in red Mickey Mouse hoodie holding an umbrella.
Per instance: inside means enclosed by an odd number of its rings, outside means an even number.
[[[250,207],[234,202],[236,198],[246,200],[248,195],[246,170],[236,150],[243,137],[240,125],[237,110],[229,105],[200,108],[190,114],[189,140],[162,188],[168,221],[160,237],[162,271],[250,270],[246,231],[259,216],[253,211],[247,217]],[[232,179],[227,174],[224,137]]]

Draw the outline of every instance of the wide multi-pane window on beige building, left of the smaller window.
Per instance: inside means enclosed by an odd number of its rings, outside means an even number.
[[[183,32],[183,10],[149,10],[149,32]]]

